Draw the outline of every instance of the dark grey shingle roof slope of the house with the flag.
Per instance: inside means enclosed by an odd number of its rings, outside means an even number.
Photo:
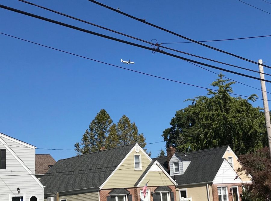
[[[40,179],[44,194],[100,187],[135,145],[59,160]]]

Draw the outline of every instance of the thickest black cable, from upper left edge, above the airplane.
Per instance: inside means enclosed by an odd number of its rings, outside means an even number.
[[[21,10],[17,10],[15,8],[10,8],[8,6],[0,5],[0,8],[4,8],[6,10],[14,11],[14,12],[17,12],[17,13],[20,13],[20,14],[24,14],[24,15],[33,17],[33,18],[48,21],[48,22],[58,24],[58,25],[61,25],[61,26],[64,26],[64,27],[79,30],[79,31],[82,31],[82,32],[85,32],[85,33],[88,33],[88,34],[93,34],[93,35],[96,35],[96,36],[99,36],[99,37],[107,38],[107,39],[110,39],[110,40],[115,40],[115,41],[118,41],[118,42],[121,42],[121,43],[129,44],[129,45],[132,45],[132,46],[136,46],[136,47],[140,47],[140,48],[143,48],[143,49],[148,49],[148,50],[153,51],[153,48],[151,48],[151,47],[139,45],[139,44],[136,44],[136,43],[132,43],[132,42],[129,42],[129,41],[126,41],[126,40],[121,40],[121,39],[114,38],[114,37],[110,37],[110,36],[107,36],[107,35],[104,35],[104,34],[99,34],[99,33],[96,33],[96,32],[90,31],[90,30],[86,30],[86,29],[83,29],[83,28],[80,28],[80,27],[76,27],[76,26],[73,26],[73,25],[70,25],[70,24],[65,24],[65,23],[55,21],[55,20],[52,20],[52,19],[49,19],[49,18],[44,18],[42,16],[35,15],[35,14],[32,14],[32,13],[28,13],[28,12],[21,11]],[[182,60],[185,60],[185,61],[190,61],[190,62],[193,62],[193,63],[204,65],[204,66],[207,66],[207,67],[210,67],[210,68],[218,69],[218,70],[221,70],[221,71],[230,72],[230,73],[233,73],[233,74],[236,74],[236,75],[241,75],[241,76],[244,76],[244,77],[253,78],[253,79],[256,79],[256,80],[262,80],[262,81],[266,81],[266,82],[271,83],[270,80],[261,79],[261,78],[246,75],[246,74],[243,74],[243,73],[239,73],[239,72],[231,71],[231,70],[228,70],[228,69],[223,69],[223,68],[220,68],[220,67],[216,67],[214,65],[209,65],[209,64],[206,64],[206,63],[198,62],[198,61],[195,61],[195,60],[192,60],[192,59],[188,59],[188,58],[185,58],[185,57],[181,57],[181,56],[178,56],[178,55],[175,55],[175,54],[165,52],[165,51],[160,50],[160,49],[157,49],[156,52],[159,52],[159,53],[162,53],[162,54],[165,54],[165,55],[168,55],[168,56],[173,56],[175,58],[182,59]]]

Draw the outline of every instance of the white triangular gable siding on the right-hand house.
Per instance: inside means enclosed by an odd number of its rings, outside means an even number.
[[[235,179],[236,176],[238,176],[237,173],[234,171],[229,162],[225,159],[220,166],[218,172],[216,173],[213,184],[242,183],[240,177],[237,177],[237,179]]]

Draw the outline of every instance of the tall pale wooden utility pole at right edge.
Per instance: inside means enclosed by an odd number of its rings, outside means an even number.
[[[263,65],[261,65],[263,64],[263,60],[259,59],[258,63],[259,63],[260,78],[264,79]],[[263,109],[264,109],[264,116],[265,116],[265,122],[266,122],[269,152],[270,152],[270,158],[271,158],[271,124],[270,124],[270,115],[269,115],[269,107],[268,107],[268,101],[267,101],[265,81],[261,80],[261,87],[262,87],[262,95],[263,95]]]

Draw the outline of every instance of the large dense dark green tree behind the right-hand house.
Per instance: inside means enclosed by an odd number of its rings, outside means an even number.
[[[235,82],[224,80],[220,73],[208,90],[207,96],[186,101],[192,104],[176,112],[170,128],[163,132],[167,145],[173,144],[179,152],[196,151],[221,145],[230,145],[238,154],[255,151],[266,145],[264,113],[253,107],[256,94],[248,99],[232,97]]]

